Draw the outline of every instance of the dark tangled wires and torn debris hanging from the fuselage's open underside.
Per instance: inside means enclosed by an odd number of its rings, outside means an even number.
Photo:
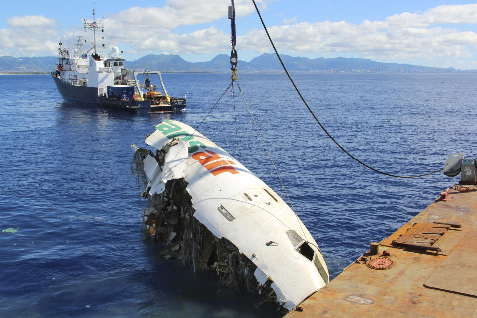
[[[150,193],[143,160],[149,155],[159,167],[163,167],[169,148],[177,144],[178,139],[173,139],[155,154],[145,148],[137,148],[134,154],[131,172],[138,177],[142,197],[148,199],[143,219],[145,237],[154,244],[161,244],[169,257],[181,260],[194,272],[212,269],[217,272],[221,283],[258,292],[258,282],[253,276],[257,266],[230,241],[217,238],[193,217],[195,209],[184,178],[168,180],[162,193]],[[269,292],[271,290],[263,293],[264,296]]]

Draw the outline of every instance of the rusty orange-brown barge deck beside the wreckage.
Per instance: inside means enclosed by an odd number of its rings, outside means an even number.
[[[449,188],[285,317],[477,318],[476,190]]]

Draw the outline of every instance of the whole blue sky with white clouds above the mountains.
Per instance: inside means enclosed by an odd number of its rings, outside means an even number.
[[[280,53],[309,58],[361,57],[375,61],[477,69],[477,4],[472,1],[256,0]],[[272,52],[251,0],[235,0],[239,60]],[[208,61],[230,53],[230,0],[162,0],[152,4],[98,0],[106,17],[109,51],[127,60],[178,54]],[[0,55],[55,55],[59,40],[74,47],[90,39],[82,19],[93,1],[10,1],[0,12]],[[88,41],[89,42],[89,41]],[[101,44],[102,44],[101,43]]]

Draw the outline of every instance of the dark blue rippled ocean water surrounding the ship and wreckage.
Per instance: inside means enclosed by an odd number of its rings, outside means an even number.
[[[319,120],[365,163],[399,175],[477,157],[477,74],[292,74]],[[49,75],[2,75],[1,317],[279,317],[256,298],[194,275],[143,242],[130,145],[171,118],[196,127],[229,74],[164,74],[181,113],[134,114],[62,102]],[[299,217],[331,277],[459,178],[387,177],[347,157],[321,131],[286,75],[239,84]],[[282,197],[237,87],[199,131]],[[238,138],[238,147],[236,140]]]

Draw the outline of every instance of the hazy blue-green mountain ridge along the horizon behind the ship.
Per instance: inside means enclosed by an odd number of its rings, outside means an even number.
[[[422,65],[376,62],[363,58],[305,58],[281,55],[290,72],[458,72],[453,67],[437,68]],[[48,73],[57,58],[46,57],[0,57],[0,73]],[[219,54],[210,61],[188,62],[175,54],[148,54],[134,61],[126,61],[129,69],[162,70],[163,72],[228,72],[229,56]],[[241,72],[283,72],[275,54],[263,53],[250,61],[239,61]]]

